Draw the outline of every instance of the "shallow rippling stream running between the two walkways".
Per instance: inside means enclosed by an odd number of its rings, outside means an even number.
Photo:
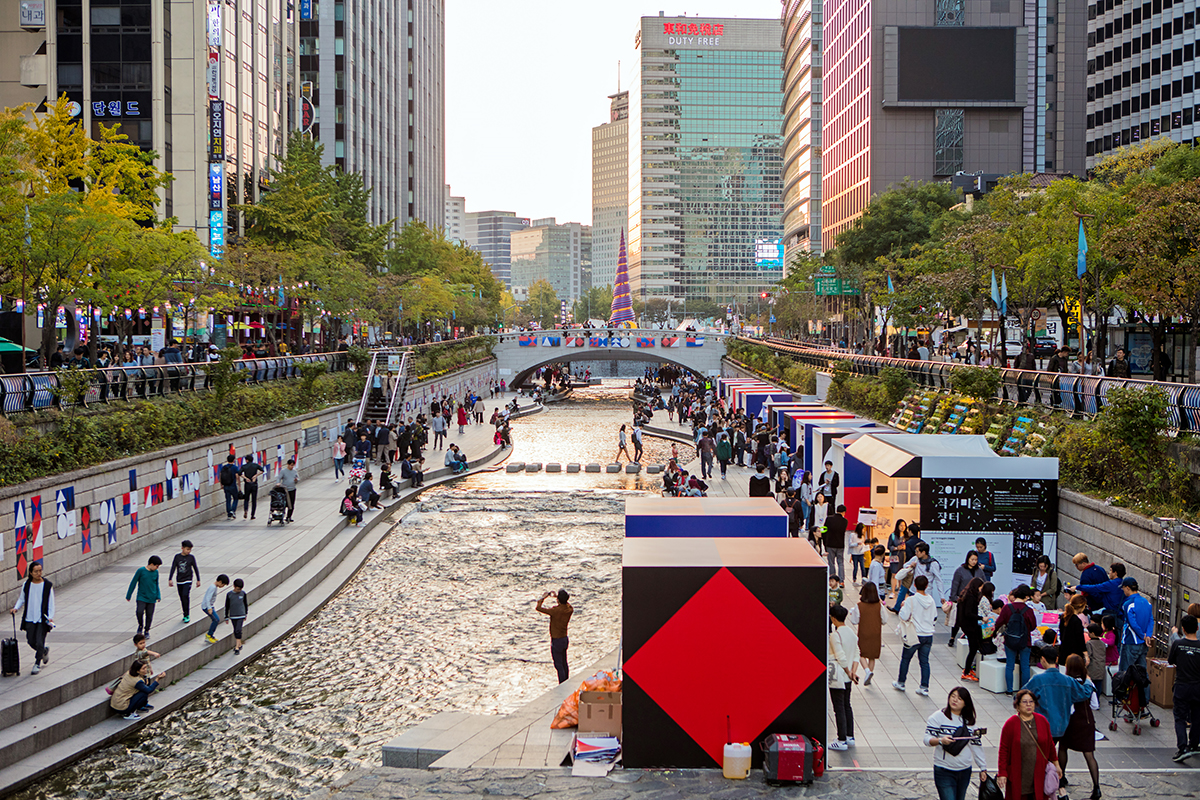
[[[607,380],[516,421],[512,458],[611,462],[629,393]],[[668,451],[647,438],[643,463]],[[277,646],[17,796],[304,796],[379,764],[388,740],[438,712],[510,712],[554,685],[546,618],[534,612],[541,593],[572,595],[572,670],[617,646],[624,501],[656,483],[500,470],[433,488]]]

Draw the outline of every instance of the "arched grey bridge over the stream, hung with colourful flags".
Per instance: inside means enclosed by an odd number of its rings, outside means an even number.
[[[538,367],[556,361],[666,362],[701,375],[721,374],[724,333],[638,327],[569,329],[502,333],[492,350],[499,377],[520,386]]]

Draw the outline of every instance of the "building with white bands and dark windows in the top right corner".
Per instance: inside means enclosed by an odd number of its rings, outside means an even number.
[[[1158,136],[1200,138],[1196,0],[1087,6],[1087,166]]]

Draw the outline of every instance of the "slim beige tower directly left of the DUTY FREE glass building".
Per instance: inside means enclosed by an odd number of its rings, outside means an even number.
[[[592,128],[592,285],[617,282],[629,227],[629,92],[610,95],[608,121]]]

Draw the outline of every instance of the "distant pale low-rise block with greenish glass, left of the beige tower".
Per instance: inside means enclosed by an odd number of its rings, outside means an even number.
[[[558,224],[553,217],[534,219],[511,235],[512,293],[528,296],[529,287],[547,281],[558,299],[575,302],[588,289],[592,269],[592,227]]]

